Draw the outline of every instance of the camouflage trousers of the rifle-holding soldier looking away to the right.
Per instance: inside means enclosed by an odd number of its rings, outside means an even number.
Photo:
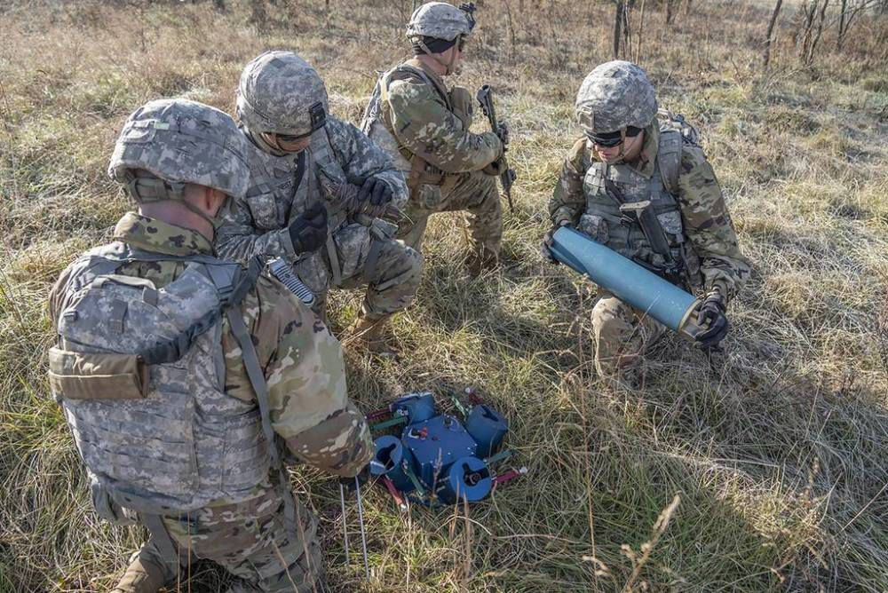
[[[503,241],[503,209],[496,177],[481,171],[449,175],[441,186],[419,186],[407,203],[409,223],[400,225],[398,237],[417,251],[429,217],[437,212],[466,210],[473,249],[484,257],[497,257]]]

